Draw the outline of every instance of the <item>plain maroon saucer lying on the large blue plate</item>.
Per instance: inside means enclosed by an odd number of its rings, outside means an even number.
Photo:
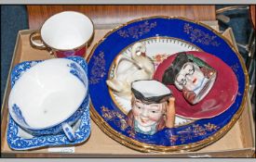
[[[174,85],[168,85],[176,100],[176,114],[183,118],[213,118],[222,114],[227,108],[235,102],[238,84],[236,74],[217,56],[209,55],[205,52],[189,51],[187,54],[199,57],[209,64],[210,67],[217,70],[217,79],[206,97],[195,105],[190,105],[182,92]],[[164,71],[168,69],[176,55],[168,56],[155,70],[154,79],[162,81]]]

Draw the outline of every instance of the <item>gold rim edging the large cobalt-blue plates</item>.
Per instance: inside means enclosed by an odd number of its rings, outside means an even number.
[[[93,55],[95,49],[114,31],[117,31],[118,29],[120,29],[124,26],[127,26],[130,23],[136,22],[136,21],[141,21],[141,20],[145,20],[145,19],[156,19],[156,18],[160,18],[160,19],[182,19],[182,20],[185,20],[185,21],[188,21],[188,22],[198,24],[199,26],[205,27],[209,31],[212,31],[213,33],[215,33],[216,35],[221,37],[222,40],[224,40],[224,42],[226,44],[228,44],[229,47],[231,47],[231,49],[235,52],[236,56],[238,57],[238,59],[240,61],[240,64],[242,66],[242,69],[244,71],[244,74],[245,74],[245,91],[243,93],[242,103],[239,106],[238,110],[236,111],[236,114],[233,116],[233,118],[231,118],[231,120],[224,127],[222,127],[221,130],[215,132],[210,137],[208,137],[208,138],[206,138],[202,141],[196,142],[196,143],[188,143],[188,144],[175,145],[175,146],[163,146],[163,145],[141,143],[141,142],[138,142],[136,140],[133,140],[133,139],[121,134],[120,132],[115,131],[112,127],[110,127],[110,125],[108,125],[108,123],[106,123],[106,121],[104,121],[103,118],[101,118],[101,116],[97,113],[96,109],[94,108],[94,106],[91,103],[90,103],[90,110],[91,110],[90,114],[91,114],[91,117],[92,117],[93,121],[98,125],[98,127],[101,129],[101,131],[105,132],[108,136],[110,136],[112,139],[114,139],[118,143],[122,143],[122,144],[124,144],[124,145],[126,145],[130,148],[135,149],[135,150],[138,150],[138,151],[141,151],[141,152],[163,152],[163,153],[169,153],[169,152],[175,152],[175,151],[181,151],[181,150],[195,151],[195,150],[198,150],[200,148],[203,148],[203,147],[209,145],[210,143],[214,143],[217,140],[221,139],[222,136],[235,125],[236,120],[242,114],[242,112],[244,110],[244,107],[245,107],[245,104],[246,104],[247,95],[245,95],[245,94],[248,93],[248,89],[249,89],[248,71],[245,67],[242,56],[240,56],[238,51],[236,51],[236,48],[233,46],[233,44],[230,43],[229,40],[227,40],[225,37],[223,37],[219,32],[214,31],[208,25],[203,24],[203,23],[198,22],[198,21],[195,21],[195,20],[185,19],[185,18],[181,18],[181,17],[154,16],[154,17],[148,17],[148,18],[133,19],[131,21],[128,21],[125,24],[122,24],[122,25],[116,27],[115,29],[113,29],[111,31],[108,31],[105,34],[105,36],[97,44],[94,45],[94,47],[91,50],[89,56],[87,57],[87,60],[89,62],[89,60],[90,60],[91,56]]]

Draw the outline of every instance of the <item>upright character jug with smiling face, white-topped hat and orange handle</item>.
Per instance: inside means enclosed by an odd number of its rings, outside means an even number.
[[[174,98],[163,83],[154,80],[133,81],[132,109],[128,112],[128,125],[134,131],[153,135],[175,121]]]

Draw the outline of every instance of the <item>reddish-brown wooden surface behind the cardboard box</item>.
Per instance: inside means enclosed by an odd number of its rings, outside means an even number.
[[[27,6],[30,29],[40,28],[47,18],[66,10],[86,14],[97,29],[115,27],[131,19],[159,15],[216,20],[215,6]]]

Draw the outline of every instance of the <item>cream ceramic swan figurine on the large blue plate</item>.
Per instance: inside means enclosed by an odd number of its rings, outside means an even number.
[[[131,98],[130,84],[137,80],[150,80],[155,72],[152,59],[145,54],[144,44],[132,46],[131,56],[118,56],[115,61],[113,79],[107,80],[107,85],[120,97]]]

